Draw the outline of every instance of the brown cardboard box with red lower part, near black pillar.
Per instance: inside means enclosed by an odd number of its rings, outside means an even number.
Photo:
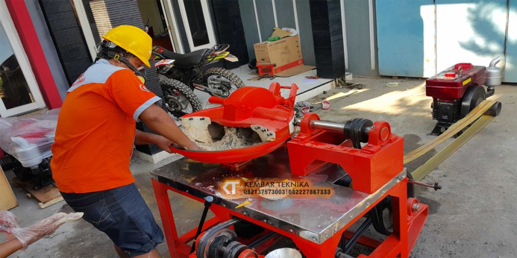
[[[276,76],[293,76],[315,68],[303,65],[298,35],[287,36],[277,41],[255,43],[253,48],[257,64],[274,63]]]

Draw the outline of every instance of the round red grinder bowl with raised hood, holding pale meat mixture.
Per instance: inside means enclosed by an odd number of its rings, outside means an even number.
[[[287,99],[280,94],[281,89],[290,89]],[[206,163],[235,164],[265,155],[282,146],[294,133],[294,101],[298,86],[280,86],[272,83],[269,90],[260,87],[237,89],[227,99],[211,96],[210,103],[221,104],[183,116],[183,123],[202,123],[206,126],[246,128],[255,132],[262,143],[243,149],[230,149],[214,152],[188,151],[179,146],[171,149],[181,155]]]

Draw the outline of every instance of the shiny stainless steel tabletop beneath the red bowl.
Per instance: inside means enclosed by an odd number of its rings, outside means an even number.
[[[274,225],[288,232],[321,244],[334,233],[357,217],[385,191],[405,177],[405,169],[373,194],[356,191],[334,184],[345,175],[343,169],[335,164],[327,164],[305,177],[315,187],[331,187],[333,195],[329,198],[296,197],[268,200],[260,196],[253,198],[229,199],[222,195],[220,184],[228,177],[262,179],[263,181],[282,181],[303,179],[291,175],[287,149],[278,150],[252,160],[244,169],[232,171],[220,164],[199,163],[181,158],[151,172],[151,176],[161,183],[168,184],[193,196],[214,197],[214,203],[223,205],[241,214]],[[251,203],[235,208],[250,199]]]

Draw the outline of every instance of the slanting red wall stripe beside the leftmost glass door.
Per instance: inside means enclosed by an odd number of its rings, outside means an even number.
[[[57,91],[54,78],[50,72],[47,59],[39,43],[36,29],[33,26],[31,16],[25,5],[25,1],[6,0],[7,9],[11,14],[14,27],[20,36],[23,49],[27,55],[31,67],[36,77],[43,100],[49,109],[58,108],[63,104],[59,92]]]

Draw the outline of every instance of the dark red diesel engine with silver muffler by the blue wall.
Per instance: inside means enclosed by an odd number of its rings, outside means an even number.
[[[499,60],[499,57],[492,60],[488,68],[458,63],[425,81],[425,94],[433,98],[433,119],[438,120],[432,135],[442,134],[494,94],[494,86],[500,85],[502,78],[501,69],[495,66]],[[483,85],[488,86],[488,91]],[[496,116],[500,109],[498,103],[490,112]]]

